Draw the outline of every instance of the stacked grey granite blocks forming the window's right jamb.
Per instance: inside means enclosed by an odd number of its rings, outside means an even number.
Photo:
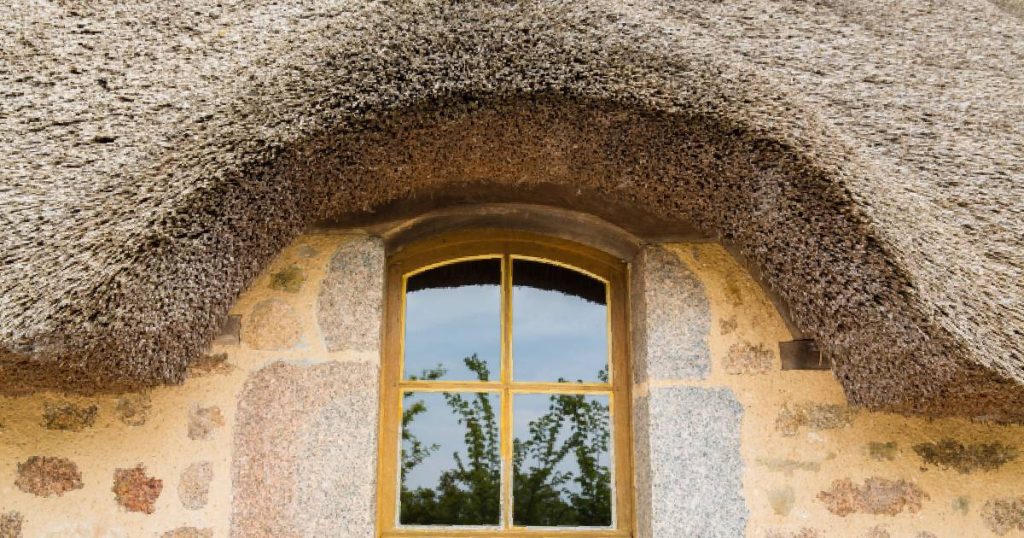
[[[639,536],[736,536],[748,516],[742,409],[729,388],[687,385],[711,371],[703,285],[656,246],[640,251],[630,276]]]

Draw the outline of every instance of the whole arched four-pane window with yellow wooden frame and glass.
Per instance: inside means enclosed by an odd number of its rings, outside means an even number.
[[[625,282],[507,232],[390,257],[381,536],[630,536]]]

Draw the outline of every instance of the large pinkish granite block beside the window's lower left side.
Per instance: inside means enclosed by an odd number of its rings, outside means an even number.
[[[231,536],[371,537],[378,370],[273,363],[239,399]]]

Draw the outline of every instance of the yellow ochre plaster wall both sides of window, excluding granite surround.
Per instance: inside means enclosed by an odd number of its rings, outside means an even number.
[[[25,537],[228,536],[246,380],[279,362],[379,361],[375,351],[329,351],[317,323],[332,256],[357,238],[306,235],[286,248],[232,308],[241,343],[214,344],[180,386],[0,398],[0,538],[18,529]],[[723,248],[666,248],[696,275],[711,308],[710,375],[671,383],[727,387],[742,406],[746,536],[1024,536],[1024,428],[848,408],[830,372],[780,370],[778,342],[792,336]],[[65,459],[31,464],[36,456]]]

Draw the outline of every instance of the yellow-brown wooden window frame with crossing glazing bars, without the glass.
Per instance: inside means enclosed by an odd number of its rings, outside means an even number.
[[[502,335],[501,380],[481,381],[403,381],[401,379],[404,337],[403,309],[406,279],[409,276],[455,261],[500,257],[502,260]],[[511,287],[510,264],[513,258],[525,258],[581,271],[604,281],[608,290],[608,339],[610,381],[604,383],[512,382]],[[611,255],[578,243],[508,231],[469,231],[450,233],[404,246],[389,255],[387,263],[383,362],[381,368],[379,460],[377,481],[377,532],[380,538],[444,536],[451,538],[557,536],[564,538],[630,537],[634,534],[633,511],[633,436],[631,424],[632,372],[629,364],[629,321],[627,265]],[[492,386],[494,385],[494,386]],[[607,395],[612,427],[611,462],[613,477],[613,527],[605,528],[525,528],[511,522],[511,481],[502,488],[501,528],[399,527],[398,458],[403,390],[476,390],[497,391],[502,402],[503,477],[510,477],[512,459],[506,452],[512,446],[512,394],[600,394]]]

